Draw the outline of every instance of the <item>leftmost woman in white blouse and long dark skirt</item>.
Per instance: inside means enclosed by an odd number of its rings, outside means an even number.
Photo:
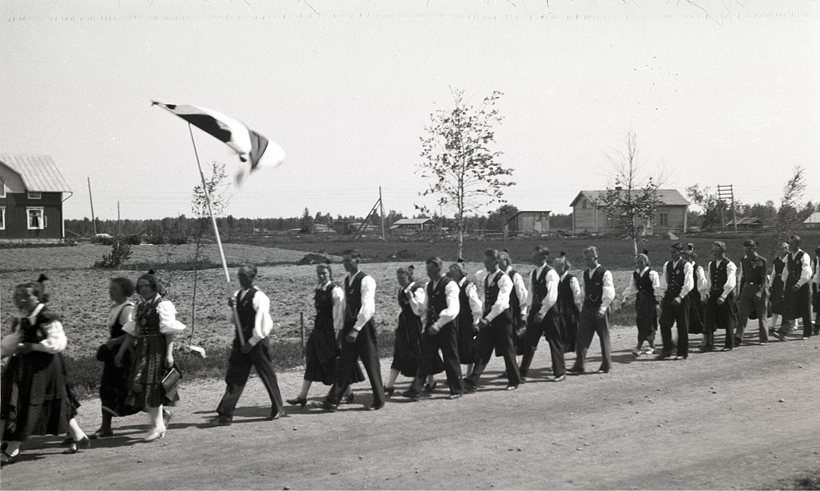
[[[31,435],[71,436],[65,453],[89,448],[89,437],[77,425],[80,403],[69,387],[66,362],[66,333],[57,315],[46,307],[44,275],[38,281],[18,284],[11,334],[2,339],[2,357],[11,357],[2,373],[0,429],[3,430],[2,466],[13,464],[21,443]]]

